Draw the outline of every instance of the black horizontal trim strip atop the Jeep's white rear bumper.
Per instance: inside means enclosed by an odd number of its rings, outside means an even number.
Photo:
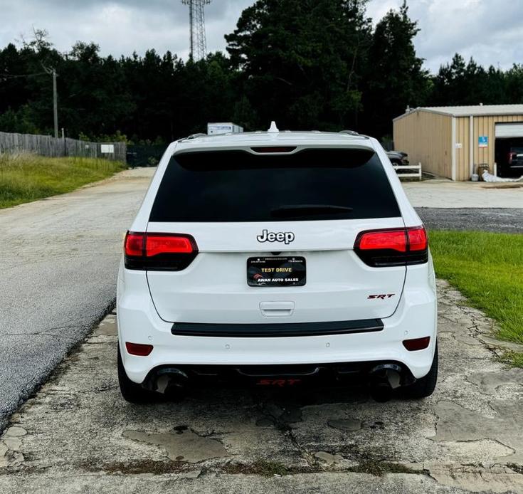
[[[355,321],[288,322],[267,324],[207,324],[201,322],[175,322],[171,333],[176,336],[212,337],[292,337],[345,335],[376,332],[384,328],[381,319]]]

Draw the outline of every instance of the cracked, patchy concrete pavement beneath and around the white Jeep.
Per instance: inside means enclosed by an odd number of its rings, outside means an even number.
[[[120,397],[115,315],[0,437],[0,492],[522,493],[523,369],[494,322],[438,281],[440,379],[422,401],[366,389],[194,389]]]

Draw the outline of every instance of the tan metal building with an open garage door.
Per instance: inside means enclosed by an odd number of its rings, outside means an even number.
[[[441,177],[470,180],[480,164],[507,176],[512,150],[523,149],[523,105],[418,107],[393,119],[393,141]]]

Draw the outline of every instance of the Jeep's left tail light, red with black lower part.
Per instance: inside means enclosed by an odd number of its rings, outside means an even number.
[[[184,233],[142,233],[125,236],[125,267],[142,270],[186,268],[198,253],[194,238]]]

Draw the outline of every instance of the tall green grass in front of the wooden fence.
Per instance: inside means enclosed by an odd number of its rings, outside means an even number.
[[[0,154],[0,209],[70,192],[122,169],[107,159]]]

